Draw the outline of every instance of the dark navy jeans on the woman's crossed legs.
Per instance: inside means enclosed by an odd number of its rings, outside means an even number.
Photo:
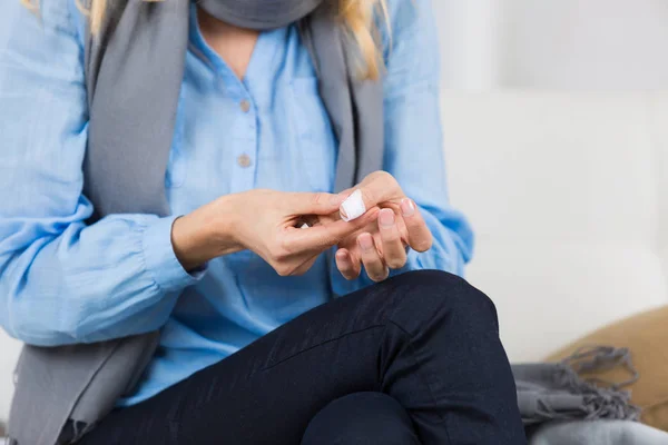
[[[320,306],[85,445],[524,444],[492,301],[415,271]]]

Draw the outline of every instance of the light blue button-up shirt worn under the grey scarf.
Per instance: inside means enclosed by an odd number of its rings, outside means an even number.
[[[85,19],[73,0],[40,3],[41,20],[19,0],[0,6],[0,325],[10,335],[53,346],[163,328],[137,393],[120,400],[129,405],[370,285],[346,281],[324,256],[304,276],[279,277],[250,251],[189,275],[171,248],[174,217],[112,215],[87,226]],[[389,4],[384,168],[434,235],[404,269],[461,274],[472,235],[448,202],[431,6]],[[253,188],[332,191],[336,151],[295,27],[262,33],[239,80],[203,39],[194,7],[166,172],[173,214]]]

